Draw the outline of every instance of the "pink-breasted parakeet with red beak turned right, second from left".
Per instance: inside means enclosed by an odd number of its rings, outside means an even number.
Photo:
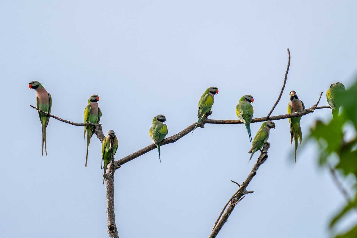
[[[98,101],[99,101],[98,95],[94,94],[89,97],[88,105],[84,109],[84,123],[87,123],[87,122],[98,123],[99,122],[100,117],[102,116],[102,112],[100,111],[100,108],[98,107]],[[86,137],[86,132],[87,132],[87,153],[86,153],[85,166],[87,166],[88,147],[89,147],[90,138],[94,134],[94,126],[84,126],[84,138]]]

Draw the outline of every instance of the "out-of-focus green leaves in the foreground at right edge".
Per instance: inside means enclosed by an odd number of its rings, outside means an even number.
[[[353,174],[357,178],[357,138],[346,141],[343,128],[353,125],[355,135],[357,131],[357,81],[346,92],[336,93],[336,98],[341,102],[343,111],[335,119],[328,123],[316,121],[315,127],[311,128],[309,139],[316,140],[319,148],[319,163],[321,166],[330,166],[329,158],[337,155],[338,163],[335,169],[343,176]],[[332,118],[332,116],[331,116]],[[346,216],[351,210],[357,210],[357,194],[347,202],[346,206],[332,219],[330,228]],[[357,225],[344,234],[338,234],[335,238],[356,238]]]

